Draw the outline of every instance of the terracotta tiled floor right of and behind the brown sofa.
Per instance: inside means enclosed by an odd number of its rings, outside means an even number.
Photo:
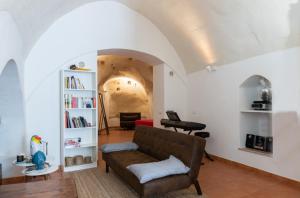
[[[131,141],[132,137],[131,131],[111,131],[109,136],[99,136],[99,145]],[[300,185],[219,160],[210,162],[204,159],[204,162],[199,180],[209,198],[300,198]],[[100,166],[104,166],[102,160]]]

